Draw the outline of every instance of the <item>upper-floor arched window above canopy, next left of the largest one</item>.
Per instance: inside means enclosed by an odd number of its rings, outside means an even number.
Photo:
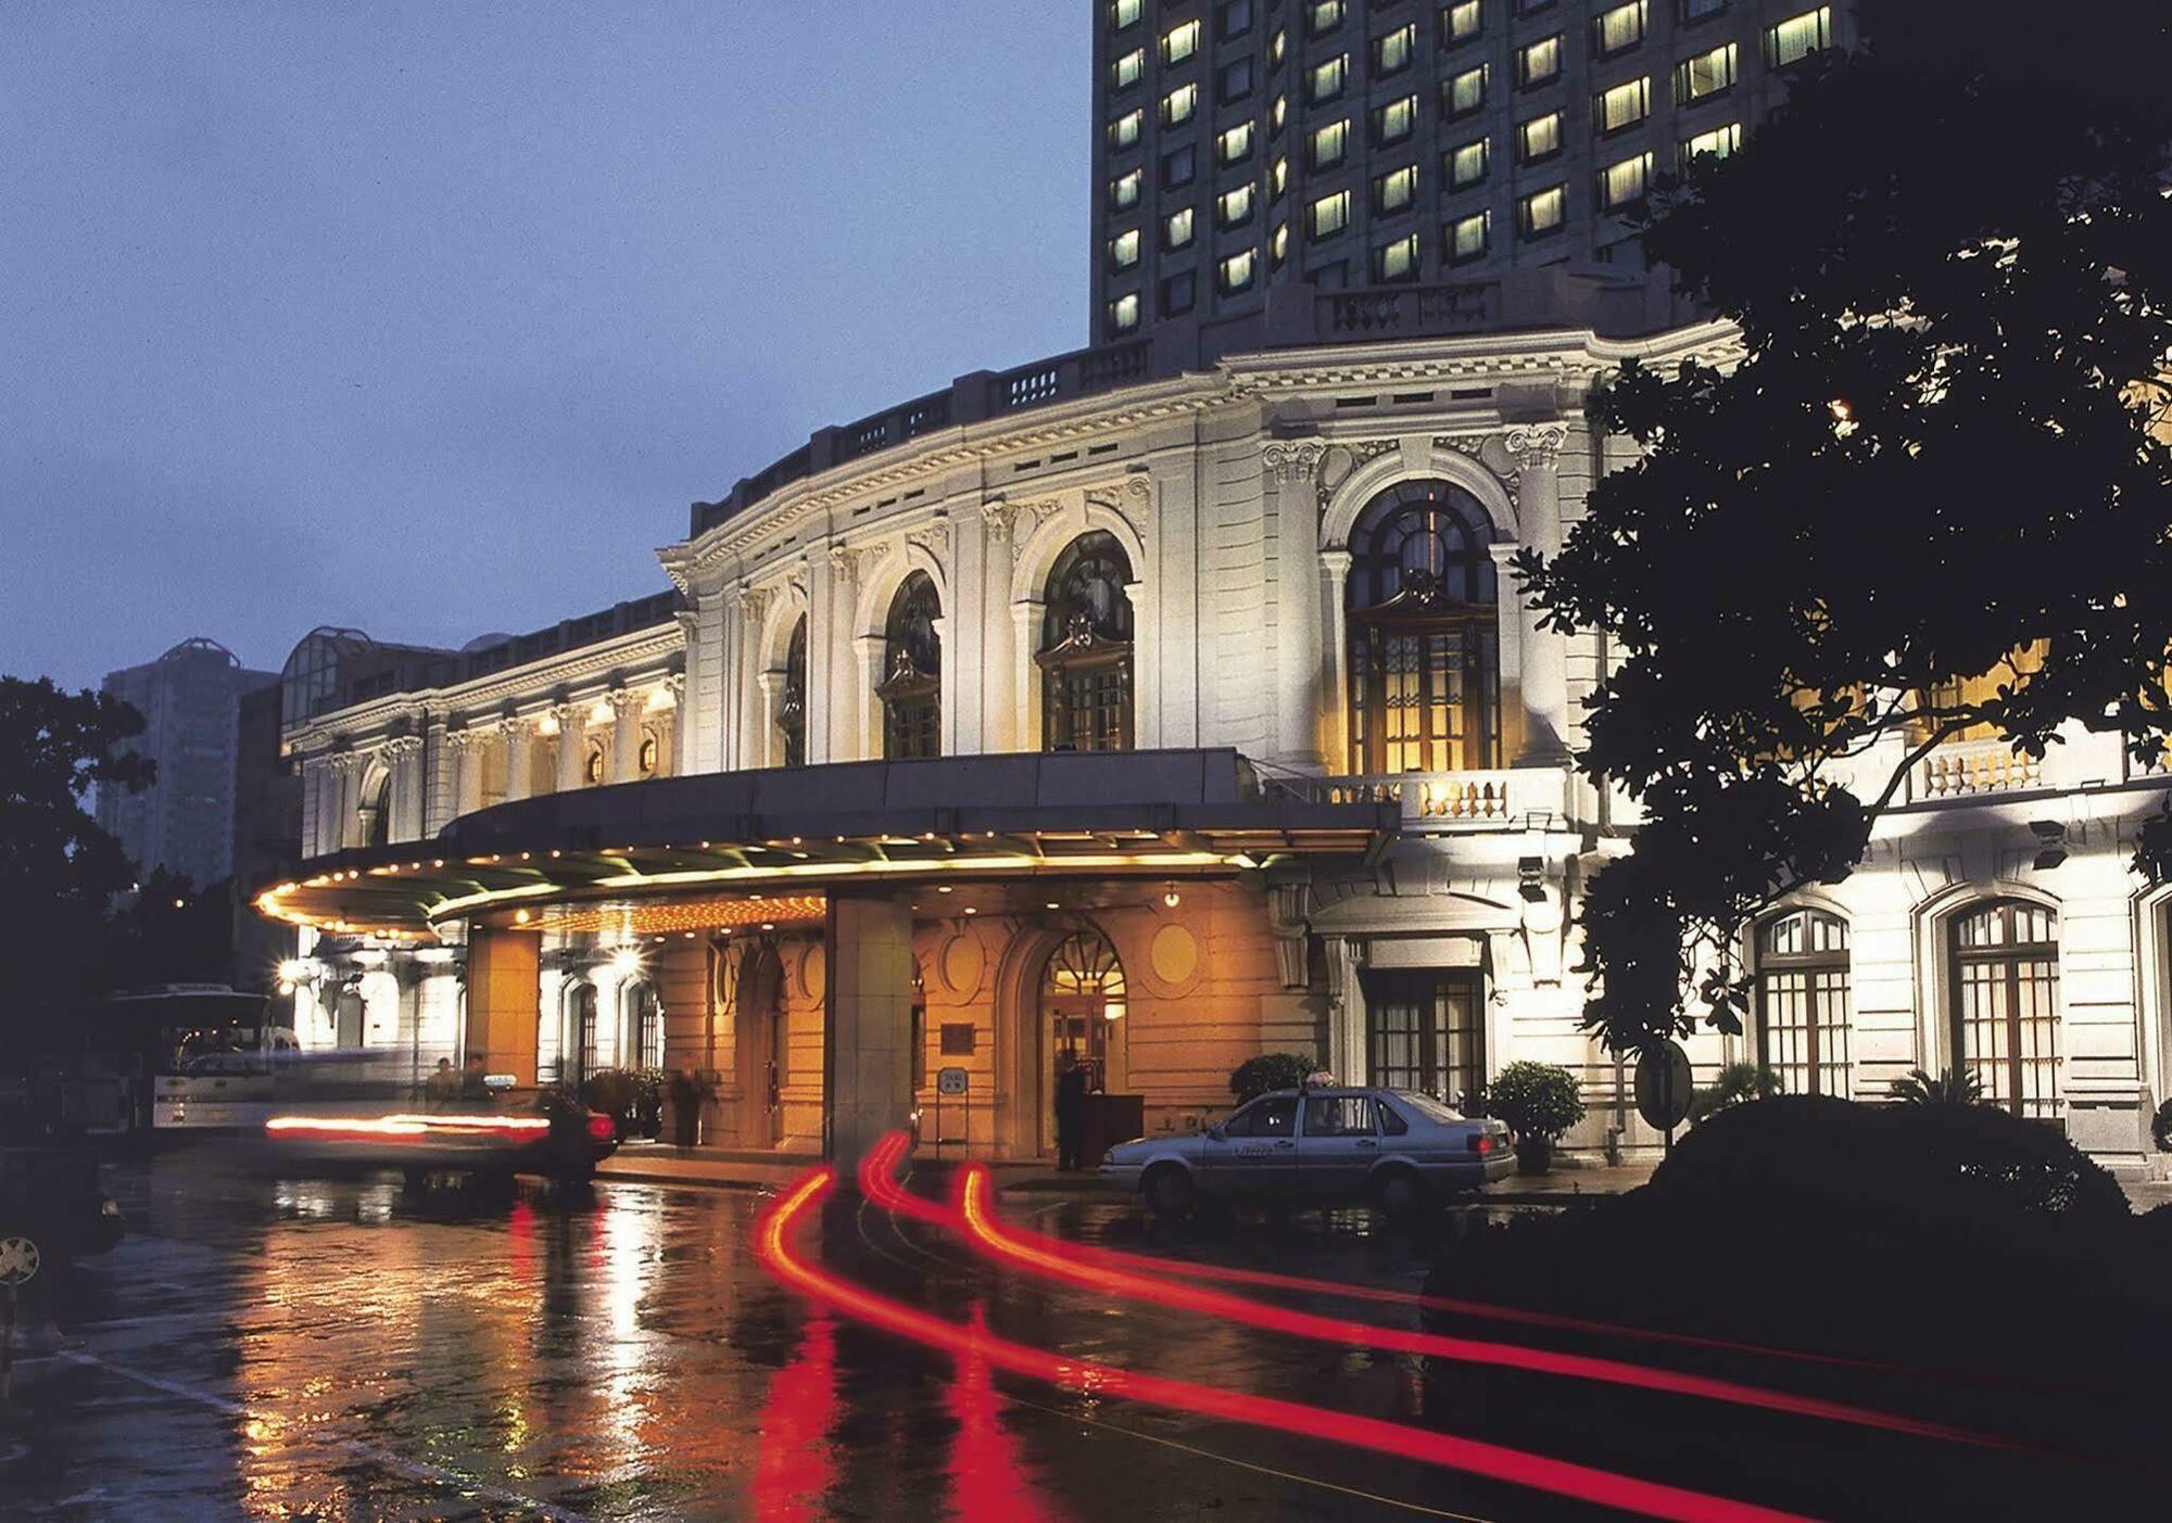
[[[1040,744],[1045,751],[1132,748],[1132,562],[1095,529],[1049,571],[1040,618]]]

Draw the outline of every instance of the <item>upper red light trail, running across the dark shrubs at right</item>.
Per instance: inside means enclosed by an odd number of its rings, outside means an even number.
[[[1568,1380],[1638,1386],[1640,1391],[1664,1391],[1668,1395],[1703,1397],[1707,1402],[1727,1402],[1731,1406],[1759,1406],[1772,1412],[1788,1412],[1792,1417],[1820,1417],[1835,1423],[1855,1423],[1859,1428],[1883,1428],[1885,1432],[1914,1434],[1918,1438],[1974,1443],[1992,1449],[2024,1447],[1990,1434],[1972,1434],[1963,1428],[1948,1428],[1944,1423],[1898,1417],[1892,1412],[1872,1412],[1861,1406],[1827,1402],[1822,1397],[1744,1386],[1735,1380],[1690,1375],[1677,1369],[1651,1369],[1614,1358],[1592,1358],[1588,1354],[1529,1349],[1516,1343],[1486,1343],[1479,1339],[1451,1339],[1438,1332],[1379,1328],[1375,1323],[1351,1321],[1347,1317],[1321,1317],[1316,1313],[1290,1310],[1286,1306],[1268,1306],[1264,1302],[1245,1300],[1242,1295],[1208,1291],[1197,1284],[1156,1280],[1110,1265],[1079,1263],[1040,1245],[1049,1239],[1038,1239],[1038,1243],[1034,1243],[1023,1237],[1012,1237],[997,1226],[995,1215],[988,1208],[988,1169],[977,1163],[969,1165],[958,1180],[958,1208],[967,1237],[995,1258],[1023,1265],[1025,1269],[1034,1269],[1056,1280],[1084,1284],[1095,1291],[1114,1291],[1116,1295],[1156,1302],[1160,1306],[1182,1306],[1208,1317],[1242,1321],[1253,1328],[1266,1328],[1268,1332],[1286,1332],[1297,1339],[1347,1343],[1355,1347],[1388,1349],[1394,1354],[1425,1354],[1466,1365],[1497,1365],[1503,1369],[1531,1371],[1536,1375],[1564,1375]]]

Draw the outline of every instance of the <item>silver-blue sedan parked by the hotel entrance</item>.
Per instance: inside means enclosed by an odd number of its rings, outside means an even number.
[[[1103,1182],[1156,1215],[1201,1200],[1251,1206],[1371,1202],[1401,1215],[1516,1172],[1507,1128],[1401,1089],[1281,1089],[1229,1119],[1110,1148]]]

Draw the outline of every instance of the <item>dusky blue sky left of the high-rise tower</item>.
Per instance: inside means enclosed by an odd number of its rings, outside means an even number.
[[[1086,341],[1084,0],[9,0],[0,673],[669,586],[823,423]]]

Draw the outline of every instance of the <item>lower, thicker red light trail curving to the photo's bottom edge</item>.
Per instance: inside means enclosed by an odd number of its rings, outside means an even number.
[[[1012,1343],[980,1328],[960,1328],[914,1306],[875,1295],[847,1280],[817,1269],[791,1252],[791,1230],[795,1219],[810,1204],[821,1200],[836,1182],[830,1169],[812,1169],[791,1191],[773,1200],[754,1228],[754,1254],[769,1274],[801,1295],[856,1317],[869,1326],[897,1336],[945,1349],[960,1360],[980,1358],[990,1369],[1001,1369],[1027,1380],[1082,1391],[1099,1397],[1116,1397],[1160,1406],[1197,1417],[1218,1417],[1234,1423],[1266,1428],[1297,1438],[1329,1438],[1373,1454],[1390,1454],[1423,1464],[1481,1475],[1486,1480],[1510,1482],[1555,1497],[1590,1501],[1601,1508],[1638,1512],[1657,1519],[1790,1519],[1794,1514],[1775,1512],[1727,1497],[1707,1497],[1681,1486],[1644,1482],[1614,1471],[1549,1460],[1540,1454],[1525,1454],[1503,1445],[1457,1438],[1453,1434],[1405,1428],[1377,1417],[1355,1417],[1331,1412],[1318,1406],[1284,1402],[1277,1397],[1251,1395],[1245,1391],[1223,1391],[1188,1380],[1166,1380],[1132,1369],[1119,1369],[1090,1358],[1066,1358],[1047,1349]]]

